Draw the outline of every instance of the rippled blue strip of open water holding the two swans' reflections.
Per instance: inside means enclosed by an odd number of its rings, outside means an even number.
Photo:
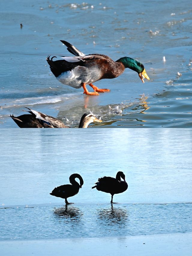
[[[0,208],[0,239],[187,233],[192,230],[191,210],[192,203]]]

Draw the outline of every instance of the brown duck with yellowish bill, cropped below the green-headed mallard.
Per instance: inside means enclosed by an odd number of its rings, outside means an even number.
[[[26,108],[30,110],[28,111],[30,114],[17,117],[10,115],[13,121],[16,122],[20,128],[70,128],[55,117],[47,116],[28,107]],[[79,128],[87,128],[92,122],[102,122],[102,120],[97,119],[93,113],[85,113],[81,117]]]

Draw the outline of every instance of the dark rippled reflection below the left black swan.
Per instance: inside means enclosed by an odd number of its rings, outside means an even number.
[[[54,208],[56,218],[65,219],[65,221],[80,221],[82,212],[77,207],[66,204],[65,206]]]

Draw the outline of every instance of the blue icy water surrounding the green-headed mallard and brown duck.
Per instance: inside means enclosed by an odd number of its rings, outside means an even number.
[[[93,127],[191,127],[190,1],[72,4],[1,1],[0,127],[16,127],[9,115],[23,114],[25,106],[72,127],[88,111],[104,121]],[[127,69],[116,79],[96,82],[110,93],[85,96],[82,89],[59,83],[49,70],[48,54],[71,55],[61,39],[85,54],[138,59],[151,80],[143,84]]]

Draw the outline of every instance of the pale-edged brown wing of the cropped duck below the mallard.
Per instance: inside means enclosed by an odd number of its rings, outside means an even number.
[[[45,115],[44,113],[38,112],[36,110],[32,110],[28,107],[26,108],[29,109],[33,115],[35,115],[36,119],[43,121],[42,123],[45,128],[67,128],[67,126],[64,125],[63,122],[61,122],[55,117]]]

